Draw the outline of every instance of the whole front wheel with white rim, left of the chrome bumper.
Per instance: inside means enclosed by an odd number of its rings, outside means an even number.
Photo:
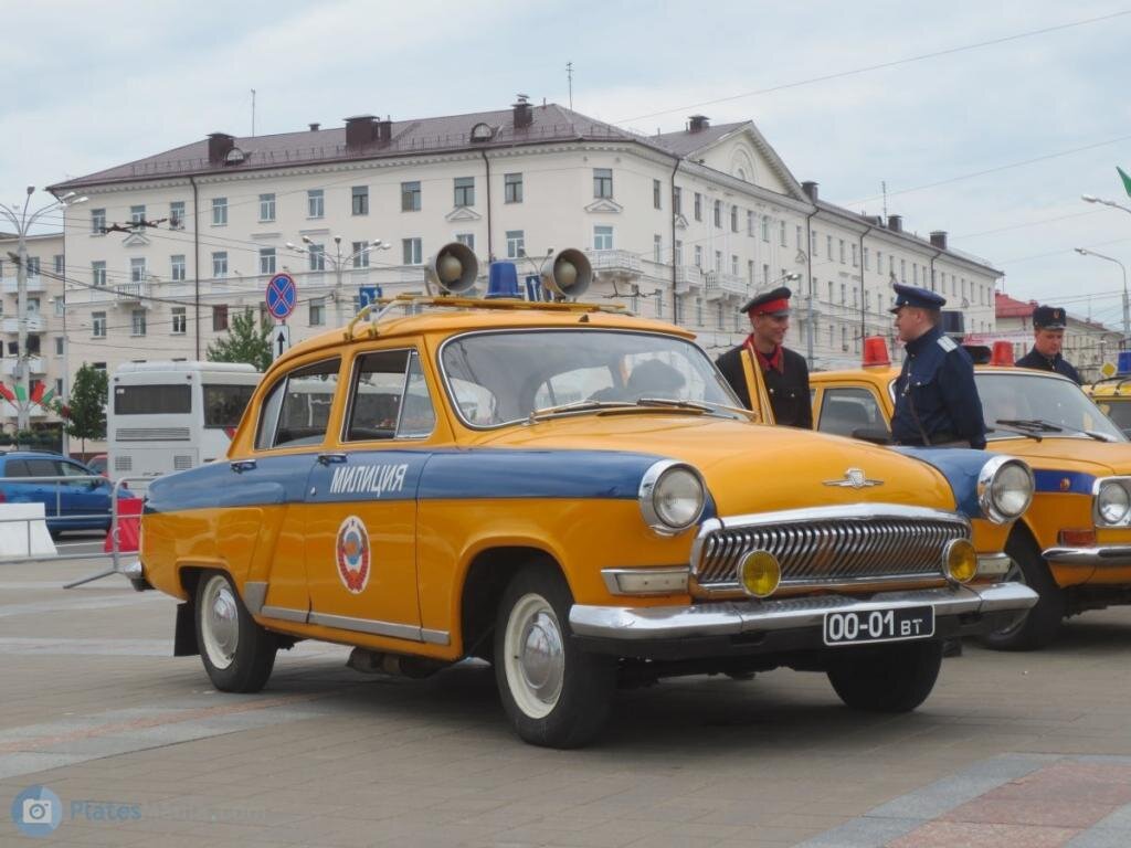
[[[519,571],[495,620],[495,682],[524,742],[580,747],[608,718],[616,681],[612,657],[586,654],[570,639],[573,596],[550,565]]]

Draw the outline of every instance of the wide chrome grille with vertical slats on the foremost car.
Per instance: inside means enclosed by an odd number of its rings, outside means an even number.
[[[942,553],[952,539],[969,538],[969,525],[934,510],[899,512],[817,517],[797,510],[777,513],[777,520],[706,522],[691,572],[708,594],[740,590],[739,563],[746,553],[762,550],[780,563],[783,587],[943,577]]]

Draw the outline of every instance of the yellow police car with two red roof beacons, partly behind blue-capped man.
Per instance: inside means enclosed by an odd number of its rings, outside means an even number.
[[[1007,650],[1041,648],[1065,617],[1131,602],[1131,444],[1074,381],[1015,367],[1008,343],[984,353],[974,371],[991,429],[986,449],[1024,459],[1036,483],[1033,505],[1005,543],[1008,578],[1026,582],[1039,600],[983,640]],[[898,375],[883,339],[865,339],[861,369],[811,377],[814,427],[882,433]]]

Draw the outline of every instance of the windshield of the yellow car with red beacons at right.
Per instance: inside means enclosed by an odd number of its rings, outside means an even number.
[[[1003,373],[975,372],[974,380],[982,396],[982,408],[985,412],[986,427],[996,432],[986,438],[1016,439],[1017,432],[1024,426],[1009,427],[996,424],[998,421],[1039,421],[1055,427],[1034,430],[1042,438],[1087,438],[1080,431],[1090,430],[1103,433],[1116,441],[1125,442],[1119,427],[1096,408],[1079,386],[1070,380],[1045,377],[1039,373]]]

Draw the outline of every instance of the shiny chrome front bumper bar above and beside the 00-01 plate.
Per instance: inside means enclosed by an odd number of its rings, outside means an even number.
[[[734,637],[777,630],[823,626],[826,613],[891,609],[930,604],[935,618],[958,615],[1022,612],[1037,603],[1021,583],[884,591],[866,600],[847,595],[818,595],[779,600],[742,600],[661,607],[588,606],[575,604],[569,622],[579,637],[620,640]]]

